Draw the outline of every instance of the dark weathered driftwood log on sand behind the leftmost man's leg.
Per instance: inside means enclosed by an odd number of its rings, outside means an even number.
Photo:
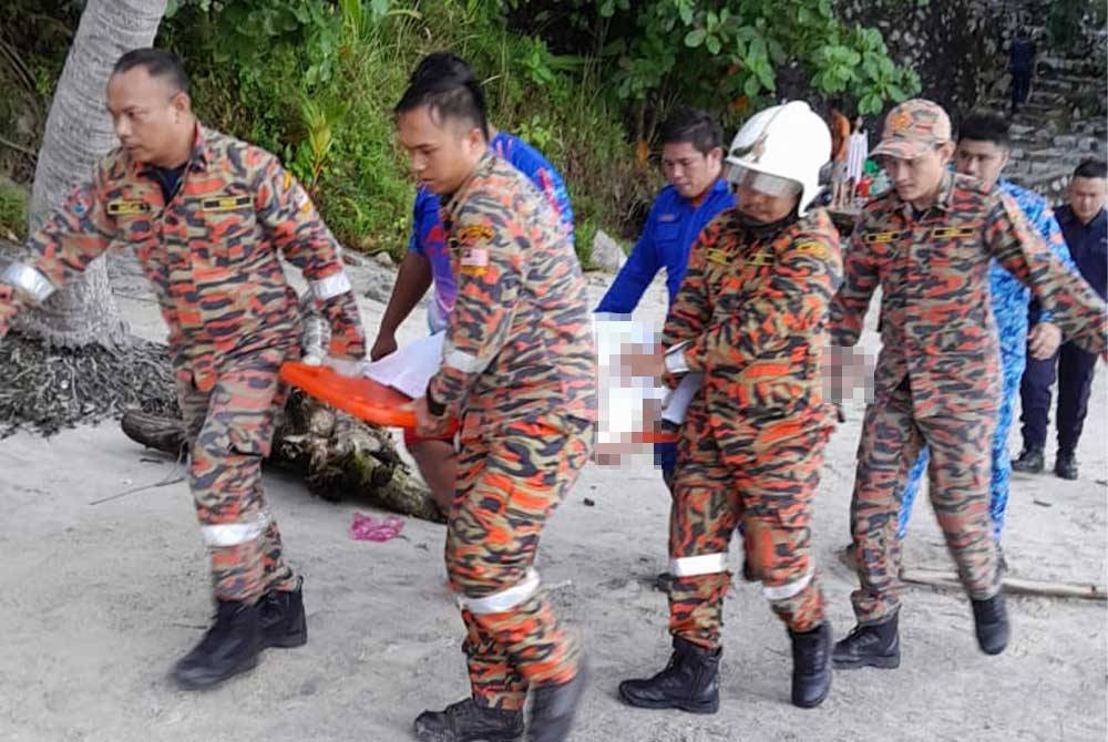
[[[187,454],[184,423],[129,411],[123,432],[132,441],[172,456]],[[387,431],[363,423],[298,390],[289,395],[267,463],[304,478],[308,491],[336,502],[361,499],[434,523],[445,518],[400,460]]]

